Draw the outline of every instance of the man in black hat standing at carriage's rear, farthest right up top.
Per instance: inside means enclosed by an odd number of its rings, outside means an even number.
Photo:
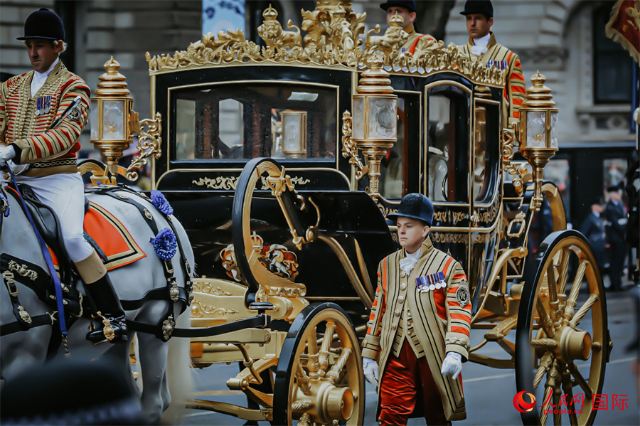
[[[519,108],[524,100],[526,81],[522,75],[520,58],[508,48],[498,44],[491,31],[494,25],[494,6],[490,0],[467,0],[461,15],[466,16],[466,31],[469,41],[458,46],[474,62],[486,67],[506,70],[506,85],[503,90],[503,126],[509,119],[520,117]]]

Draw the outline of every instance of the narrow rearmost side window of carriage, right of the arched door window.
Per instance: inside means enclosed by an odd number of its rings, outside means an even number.
[[[491,200],[496,186],[498,106],[477,102],[474,114],[474,201],[482,203]]]

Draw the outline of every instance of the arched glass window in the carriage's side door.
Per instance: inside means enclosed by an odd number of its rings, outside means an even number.
[[[469,203],[469,95],[457,86],[427,91],[427,172],[432,201]]]

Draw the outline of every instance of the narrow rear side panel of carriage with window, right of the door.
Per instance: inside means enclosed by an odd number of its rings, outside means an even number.
[[[473,149],[471,156],[471,265],[467,270],[474,292],[484,287],[487,272],[493,267],[499,238],[500,211],[500,100],[491,99],[489,89],[477,86],[474,90]]]

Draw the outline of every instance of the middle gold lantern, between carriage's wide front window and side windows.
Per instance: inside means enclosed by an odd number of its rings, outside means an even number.
[[[380,196],[380,160],[398,140],[398,96],[393,95],[381,55],[371,55],[353,95],[353,141],[368,162],[369,195]]]

